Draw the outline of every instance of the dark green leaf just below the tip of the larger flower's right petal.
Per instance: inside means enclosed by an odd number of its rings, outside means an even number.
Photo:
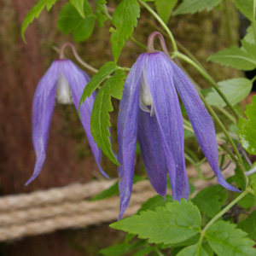
[[[216,185],[201,190],[192,201],[207,217],[213,218],[220,212],[227,196],[225,189]]]

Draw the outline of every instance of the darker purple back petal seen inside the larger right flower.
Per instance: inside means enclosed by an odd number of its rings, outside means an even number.
[[[155,191],[166,195],[166,158],[161,144],[158,120],[155,114],[139,109],[137,139],[143,155],[143,162],[148,173],[148,179]]]

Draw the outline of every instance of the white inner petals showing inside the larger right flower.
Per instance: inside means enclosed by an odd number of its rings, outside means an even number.
[[[150,107],[150,108],[148,108]],[[140,108],[150,113],[150,116],[154,115],[154,103],[152,100],[152,96],[148,87],[148,80],[147,80],[147,65],[143,68],[143,73],[141,77],[141,84],[140,84]]]

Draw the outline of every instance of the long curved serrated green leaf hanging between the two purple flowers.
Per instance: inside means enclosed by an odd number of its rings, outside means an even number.
[[[102,152],[106,154],[108,159],[112,160],[113,164],[117,166],[119,166],[119,162],[113,155],[111,143],[108,138],[110,136],[108,127],[111,126],[108,112],[113,111],[110,96],[119,100],[121,99],[125,78],[125,71],[121,69],[115,71],[113,76],[103,84],[102,89],[98,92],[90,115],[90,131],[92,137],[97,146],[102,148]]]

